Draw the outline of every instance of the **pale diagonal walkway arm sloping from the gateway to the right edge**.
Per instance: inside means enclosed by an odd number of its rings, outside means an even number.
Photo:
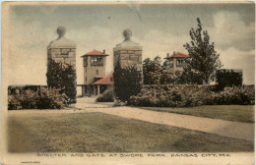
[[[227,138],[239,138],[254,141],[254,124],[250,123],[230,122],[219,119],[156,112],[132,107],[97,109],[96,111],[124,118],[216,134]]]

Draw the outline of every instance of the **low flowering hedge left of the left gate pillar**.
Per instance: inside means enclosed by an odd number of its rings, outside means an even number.
[[[60,109],[67,106],[70,102],[69,97],[61,89],[21,89],[8,93],[8,109]]]

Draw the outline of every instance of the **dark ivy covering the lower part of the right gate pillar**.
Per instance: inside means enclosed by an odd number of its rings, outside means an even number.
[[[117,99],[126,102],[142,89],[142,74],[136,67],[121,68],[120,63],[114,68],[114,93]]]

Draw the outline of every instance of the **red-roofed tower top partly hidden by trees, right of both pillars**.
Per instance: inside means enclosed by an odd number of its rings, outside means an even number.
[[[167,53],[167,57],[164,58],[167,72],[171,74],[175,74],[176,71],[183,72],[183,67],[187,65],[186,58],[189,58],[189,55],[181,52],[173,52],[171,56]]]

